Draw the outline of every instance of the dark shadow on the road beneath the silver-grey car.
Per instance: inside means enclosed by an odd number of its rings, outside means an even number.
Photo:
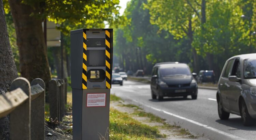
[[[249,131],[256,130],[256,125],[249,126],[249,127],[243,126],[241,117],[230,118],[228,120],[216,120],[216,122],[235,128],[235,129],[229,129],[229,130],[249,130]]]

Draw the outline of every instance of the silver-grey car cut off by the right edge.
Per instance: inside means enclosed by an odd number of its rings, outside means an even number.
[[[232,113],[242,117],[244,126],[255,124],[256,53],[226,61],[218,82],[217,103],[221,120],[227,120]]]

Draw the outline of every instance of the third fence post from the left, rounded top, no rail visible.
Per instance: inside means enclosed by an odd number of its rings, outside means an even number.
[[[58,88],[59,82],[57,80],[51,80],[49,82],[50,117],[53,120],[57,118],[57,120],[60,121]]]

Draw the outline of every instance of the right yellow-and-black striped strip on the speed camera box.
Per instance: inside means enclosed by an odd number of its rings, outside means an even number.
[[[110,61],[110,32],[105,30],[105,46],[106,46],[106,88],[111,88],[111,61]]]

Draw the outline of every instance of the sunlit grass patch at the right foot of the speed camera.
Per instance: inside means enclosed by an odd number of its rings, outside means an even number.
[[[156,139],[164,138],[157,127],[144,125],[125,113],[110,109],[110,139]],[[103,135],[103,134],[102,134]]]

